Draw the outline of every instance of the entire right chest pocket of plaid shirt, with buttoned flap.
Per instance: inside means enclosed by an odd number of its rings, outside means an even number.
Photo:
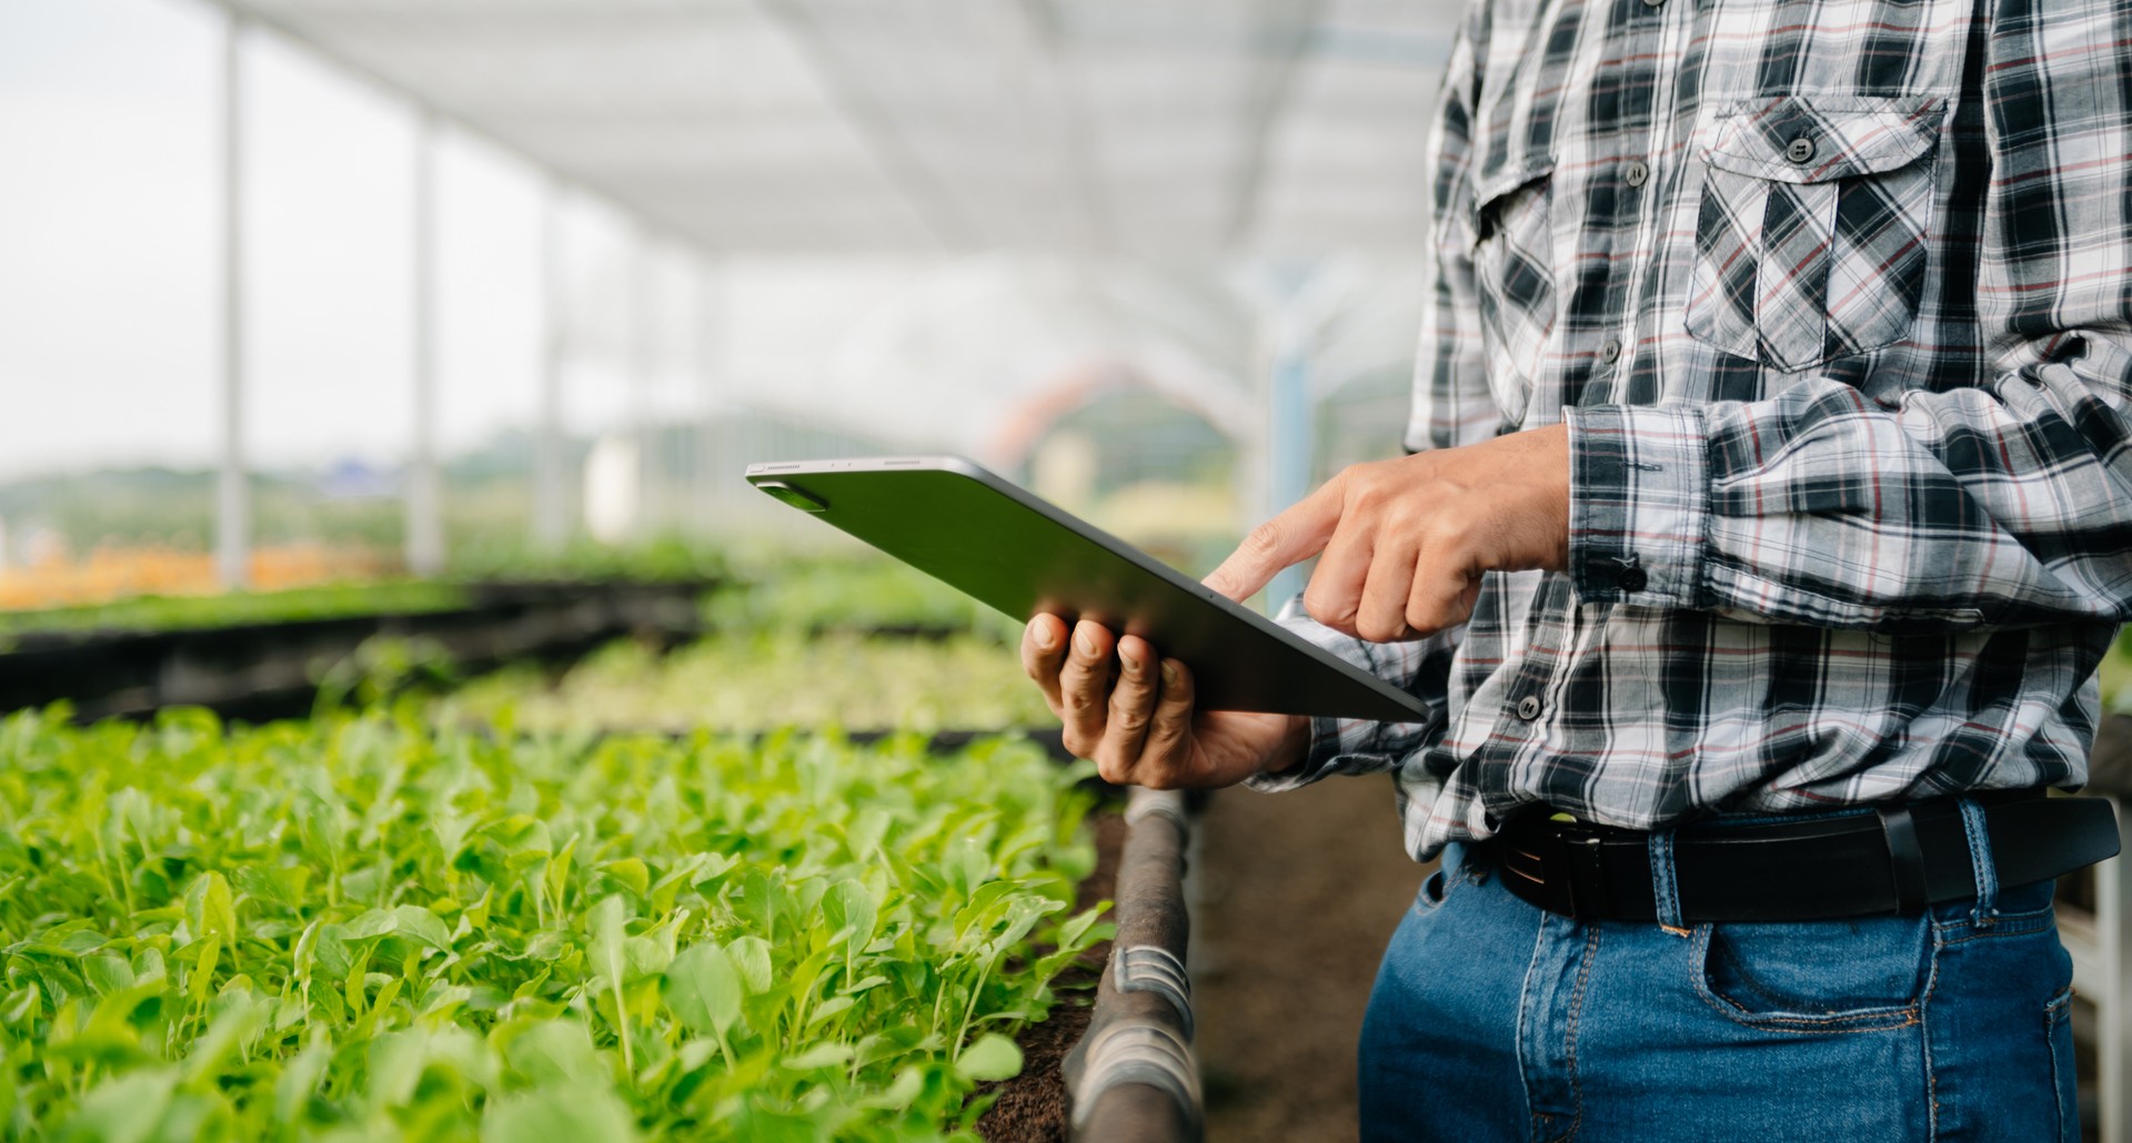
[[[1787,373],[1902,339],[1925,290],[1942,109],[1932,96],[1718,109],[1689,333]]]

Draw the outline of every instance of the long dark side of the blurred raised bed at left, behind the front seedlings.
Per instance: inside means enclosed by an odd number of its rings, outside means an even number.
[[[409,640],[456,670],[576,657],[623,633],[697,631],[701,582],[463,584],[456,606],[139,631],[23,631],[0,655],[0,710],[68,702],[83,721],[162,706],[269,719],[311,706],[369,640]],[[435,606],[431,606],[435,603]],[[390,597],[388,603],[390,608]]]

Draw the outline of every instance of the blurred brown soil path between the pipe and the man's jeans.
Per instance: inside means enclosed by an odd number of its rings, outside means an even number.
[[[1390,778],[1222,791],[1200,819],[1192,1009],[1207,1139],[1356,1139],[1354,1045],[1422,866]]]

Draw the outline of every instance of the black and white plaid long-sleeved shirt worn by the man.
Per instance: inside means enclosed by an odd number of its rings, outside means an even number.
[[[1571,572],[1320,644],[1407,847],[2079,785],[2132,614],[2132,0],[1482,0],[1409,448],[1569,422]]]

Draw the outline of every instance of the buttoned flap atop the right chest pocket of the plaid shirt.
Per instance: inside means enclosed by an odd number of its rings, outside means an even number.
[[[1938,96],[1842,96],[1738,102],[1710,117],[1703,162],[1780,183],[1827,183],[1895,171],[1940,139]]]

